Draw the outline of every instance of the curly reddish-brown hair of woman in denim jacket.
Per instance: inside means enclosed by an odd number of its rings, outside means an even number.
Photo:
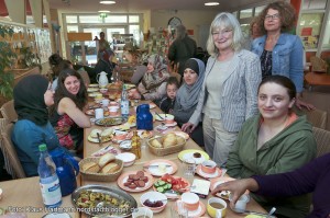
[[[293,30],[296,21],[296,10],[295,8],[285,1],[276,1],[270,3],[263,11],[258,14],[257,25],[260,32],[265,35],[267,31],[265,30],[264,21],[265,16],[270,9],[278,11],[278,15],[280,19],[280,32],[289,32]]]

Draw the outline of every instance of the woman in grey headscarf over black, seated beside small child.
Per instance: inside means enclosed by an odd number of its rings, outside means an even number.
[[[179,126],[187,123],[195,112],[205,78],[205,65],[201,60],[190,58],[185,64],[184,83],[179,88],[174,104],[173,115]],[[190,134],[191,139],[204,146],[202,126],[197,125]]]

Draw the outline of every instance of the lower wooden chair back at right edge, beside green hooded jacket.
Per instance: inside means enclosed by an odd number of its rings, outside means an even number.
[[[312,133],[317,141],[317,157],[330,152],[330,131],[312,127]]]

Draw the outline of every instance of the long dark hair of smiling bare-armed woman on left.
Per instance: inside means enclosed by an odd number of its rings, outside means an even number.
[[[76,77],[80,81],[80,89],[76,95],[69,93],[65,88],[64,81],[69,76]],[[70,68],[62,70],[58,76],[58,84],[54,94],[54,105],[51,108],[51,114],[57,110],[58,103],[63,97],[72,99],[79,110],[82,110],[87,104],[87,90],[84,80],[79,72]]]

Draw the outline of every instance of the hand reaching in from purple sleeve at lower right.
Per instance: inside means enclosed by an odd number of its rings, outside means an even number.
[[[254,179],[244,179],[244,180],[235,180],[227,183],[219,184],[213,191],[212,195],[216,195],[222,191],[230,191],[231,193],[231,202],[230,207],[234,208],[238,199],[250,190],[255,192],[258,190],[258,185]]]

